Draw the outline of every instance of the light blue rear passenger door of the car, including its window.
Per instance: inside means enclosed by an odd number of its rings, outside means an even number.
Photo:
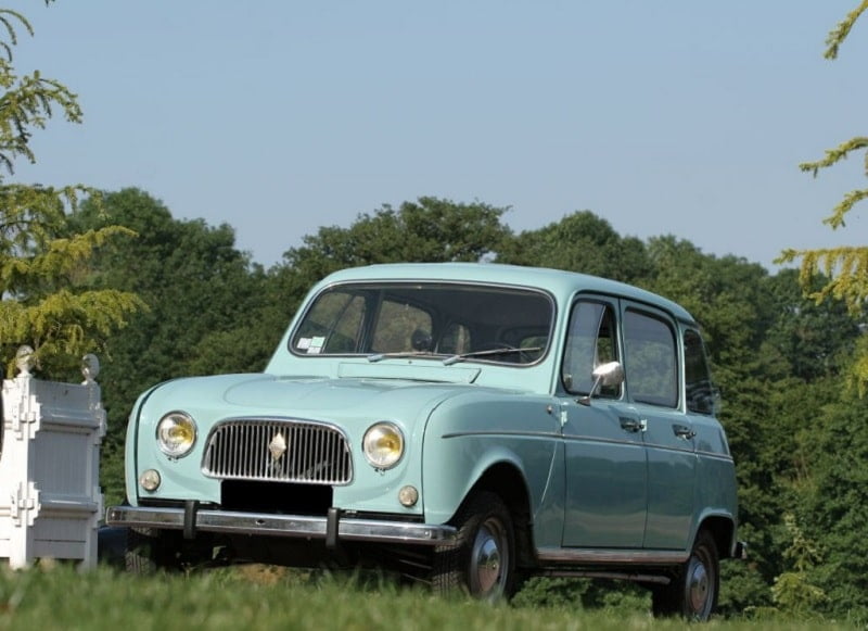
[[[693,517],[697,456],[685,414],[676,323],[651,306],[622,301],[627,399],[643,426],[648,521],[643,546],[685,550]]]

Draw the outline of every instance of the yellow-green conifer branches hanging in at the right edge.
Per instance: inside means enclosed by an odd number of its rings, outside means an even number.
[[[858,7],[835,26],[826,40],[826,59],[837,59],[841,45],[850,35],[859,16],[868,10],[868,0],[861,0]],[[813,173],[816,177],[821,168],[829,168],[851,153],[865,152],[865,175],[868,177],[868,137],[857,136],[826,151],[826,155],[816,162],[806,162],[800,168]],[[845,225],[846,214],[857,203],[868,199],[868,188],[856,189],[846,193],[841,202],[832,209],[832,214],[824,219],[825,224],[838,229]],[[802,287],[817,301],[827,299],[843,300],[852,314],[861,314],[868,299],[868,247],[821,248],[816,250],[784,250],[778,263],[789,263],[801,258],[800,279]],[[813,290],[814,277],[825,274],[828,282],[818,290]],[[859,340],[853,370],[852,382],[859,394],[868,390],[868,338]]]

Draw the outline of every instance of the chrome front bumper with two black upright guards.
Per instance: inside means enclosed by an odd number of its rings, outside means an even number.
[[[105,513],[108,526],[183,530],[186,538],[195,531],[224,534],[261,534],[322,539],[328,545],[339,541],[410,543],[417,545],[455,544],[451,526],[430,526],[403,521],[383,521],[343,517],[332,508],[328,517],[230,513],[226,510],[112,506]]]

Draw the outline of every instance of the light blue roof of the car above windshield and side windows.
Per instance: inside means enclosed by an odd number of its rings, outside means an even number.
[[[335,272],[326,277],[320,286],[384,280],[471,281],[529,287],[548,291],[562,301],[569,300],[578,291],[591,291],[652,304],[667,311],[677,319],[689,324],[695,321],[681,305],[656,293],[599,276],[547,267],[501,263],[383,263]]]

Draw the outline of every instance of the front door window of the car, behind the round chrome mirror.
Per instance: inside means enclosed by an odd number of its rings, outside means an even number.
[[[593,384],[591,373],[600,364],[618,358],[615,313],[611,305],[578,301],[570,314],[561,380],[567,392],[587,394]],[[621,386],[600,389],[601,396],[617,397]]]

